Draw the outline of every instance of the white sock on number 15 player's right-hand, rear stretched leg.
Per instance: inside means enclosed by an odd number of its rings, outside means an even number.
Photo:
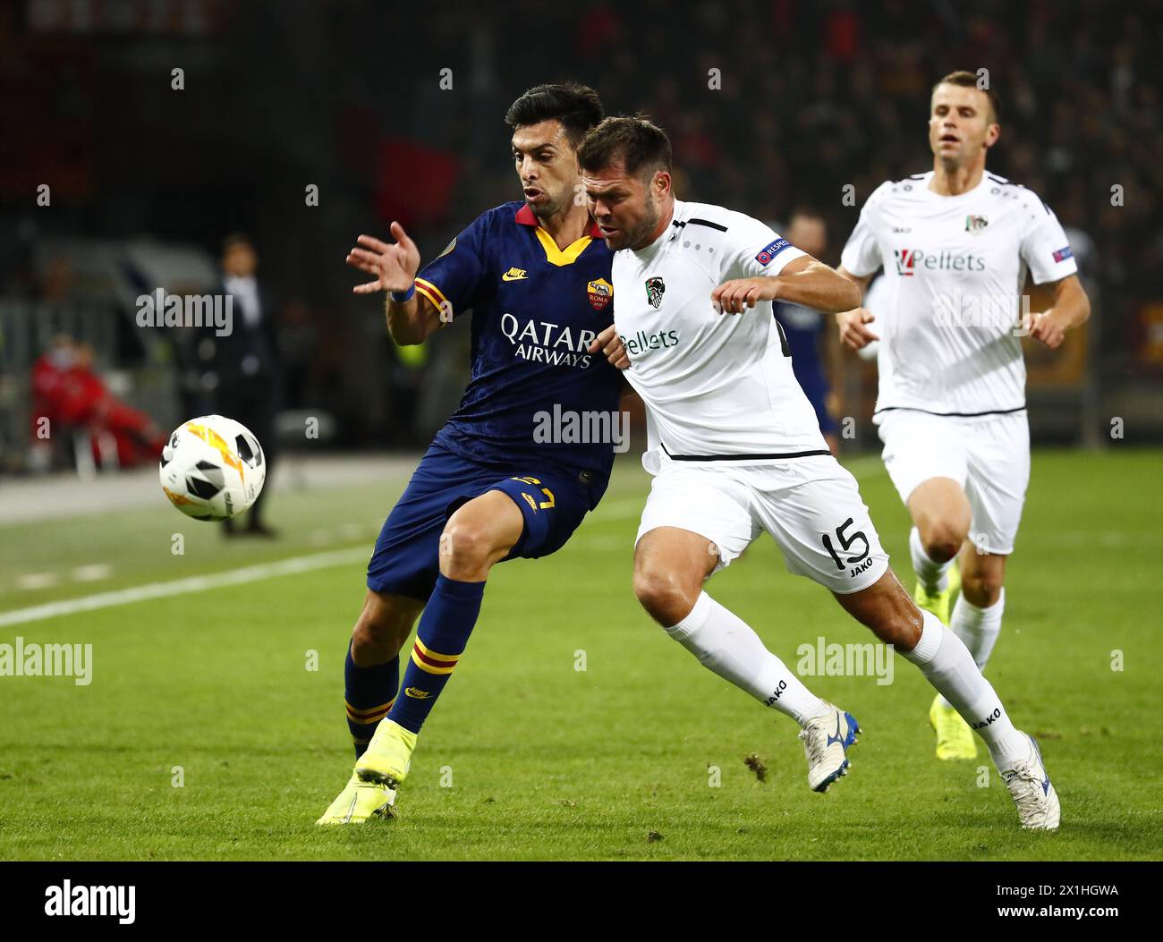
[[[921,640],[913,650],[902,652],[905,657],[977,729],[999,769],[1009,769],[1025,759],[1029,742],[1009,721],[1001,699],[982,676],[969,648],[932,612],[921,614],[925,616]]]

